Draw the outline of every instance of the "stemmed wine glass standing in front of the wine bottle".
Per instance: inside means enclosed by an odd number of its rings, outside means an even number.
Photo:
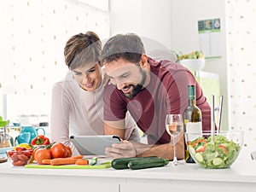
[[[166,114],[166,131],[173,138],[173,160],[172,165],[182,164],[177,161],[176,137],[183,131],[183,117],[181,114]]]

